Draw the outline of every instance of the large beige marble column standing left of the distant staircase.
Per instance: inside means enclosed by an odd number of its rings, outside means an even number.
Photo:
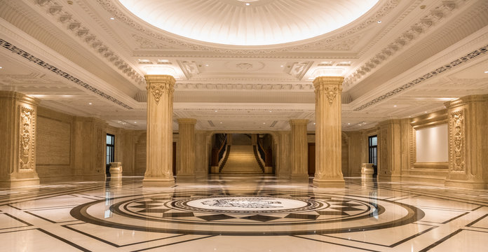
[[[175,78],[145,76],[147,82],[147,154],[144,186],[172,186],[172,104]]]

